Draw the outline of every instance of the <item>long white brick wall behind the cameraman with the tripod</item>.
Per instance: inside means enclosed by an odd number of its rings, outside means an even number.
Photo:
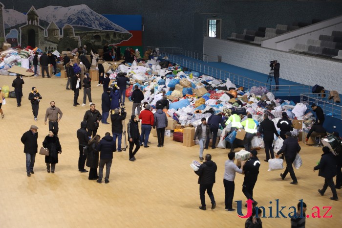
[[[342,93],[342,62],[209,37],[204,37],[203,53],[209,55],[209,62],[217,62],[220,55],[224,63],[264,74],[275,59],[280,63],[280,78]]]

